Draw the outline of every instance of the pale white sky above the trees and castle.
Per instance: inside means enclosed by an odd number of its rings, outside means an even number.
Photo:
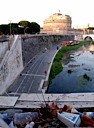
[[[0,24],[43,21],[54,13],[70,15],[72,27],[94,26],[94,0],[0,0]]]

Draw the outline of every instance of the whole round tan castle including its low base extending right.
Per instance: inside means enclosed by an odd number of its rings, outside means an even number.
[[[81,34],[82,30],[72,28],[72,18],[69,15],[54,13],[43,21],[42,33],[47,34]]]

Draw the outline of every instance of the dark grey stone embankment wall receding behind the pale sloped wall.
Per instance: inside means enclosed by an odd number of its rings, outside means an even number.
[[[43,52],[45,47],[51,48],[62,41],[74,40],[73,35],[45,35],[22,37],[22,55],[24,66],[39,52]]]

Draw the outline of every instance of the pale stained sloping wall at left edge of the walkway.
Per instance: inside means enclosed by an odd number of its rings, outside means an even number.
[[[23,70],[21,38],[15,37],[0,64],[0,94],[2,94]]]

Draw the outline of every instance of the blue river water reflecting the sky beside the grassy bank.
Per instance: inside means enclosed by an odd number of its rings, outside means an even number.
[[[52,80],[48,93],[94,92],[94,45],[67,52],[62,65],[63,70]]]

